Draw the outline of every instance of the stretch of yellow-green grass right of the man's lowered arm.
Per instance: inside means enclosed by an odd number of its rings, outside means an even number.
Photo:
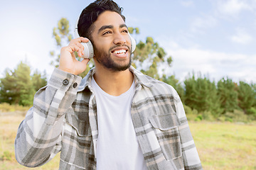
[[[256,125],[189,125],[203,169],[256,169]]]

